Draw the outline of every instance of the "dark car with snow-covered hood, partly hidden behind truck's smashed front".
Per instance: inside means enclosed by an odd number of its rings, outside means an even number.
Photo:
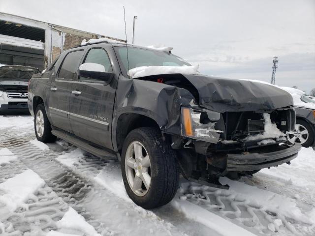
[[[293,97],[296,111],[296,125],[294,131],[287,131],[290,142],[300,143],[303,147],[315,146],[315,101],[305,92],[289,87],[280,87]]]

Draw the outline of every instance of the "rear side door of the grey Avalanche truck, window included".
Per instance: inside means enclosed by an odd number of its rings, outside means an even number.
[[[73,133],[69,119],[71,87],[77,77],[83,52],[83,50],[72,51],[65,56],[49,91],[49,113],[52,125],[70,133]]]

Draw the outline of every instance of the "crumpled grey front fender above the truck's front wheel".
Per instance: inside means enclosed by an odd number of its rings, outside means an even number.
[[[134,113],[155,120],[161,131],[180,134],[180,109],[194,100],[187,90],[152,81],[129,79],[122,74],[116,91],[112,119],[112,142],[117,150],[116,131],[122,114]]]

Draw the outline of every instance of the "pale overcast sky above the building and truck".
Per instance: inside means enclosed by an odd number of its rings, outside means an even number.
[[[315,0],[0,0],[0,11],[74,29],[164,44],[199,71],[315,88]]]

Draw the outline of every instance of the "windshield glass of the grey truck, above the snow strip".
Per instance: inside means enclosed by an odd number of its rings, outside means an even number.
[[[114,47],[123,74],[128,70],[126,46]],[[128,47],[129,69],[139,66],[185,66],[190,64],[184,59],[162,51]]]

